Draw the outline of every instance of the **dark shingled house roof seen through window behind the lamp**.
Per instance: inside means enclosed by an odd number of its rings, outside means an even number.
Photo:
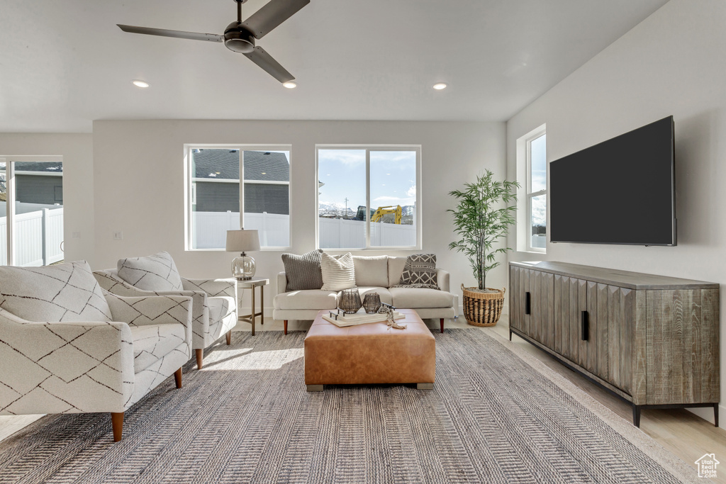
[[[240,154],[236,149],[199,149],[192,156],[197,179],[240,179]],[[284,153],[245,151],[245,180],[290,181],[287,156]]]

